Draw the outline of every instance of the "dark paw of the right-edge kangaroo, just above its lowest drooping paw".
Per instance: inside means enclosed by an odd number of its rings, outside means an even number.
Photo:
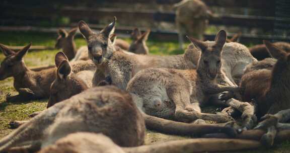
[[[261,117],[263,120],[260,122],[254,129],[267,129],[271,126],[275,126],[278,124],[279,119],[275,115],[266,114],[265,116]]]

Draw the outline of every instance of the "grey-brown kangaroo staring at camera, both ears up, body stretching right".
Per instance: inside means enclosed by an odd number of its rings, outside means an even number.
[[[94,33],[84,21],[79,22],[80,31],[88,43],[89,56],[98,67],[93,85],[98,85],[100,78],[110,76],[113,84],[120,89],[126,89],[131,77],[141,69],[149,67],[192,69],[196,67],[191,62],[192,50],[173,56],[127,54],[116,50],[109,40],[109,36],[114,32],[115,23],[116,18],[103,30]]]

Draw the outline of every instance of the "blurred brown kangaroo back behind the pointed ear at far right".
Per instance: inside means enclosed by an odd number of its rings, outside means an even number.
[[[287,42],[275,42],[274,45],[278,46],[285,52],[290,52],[290,44]],[[255,45],[249,49],[251,54],[258,60],[263,60],[265,58],[271,57],[264,44]]]

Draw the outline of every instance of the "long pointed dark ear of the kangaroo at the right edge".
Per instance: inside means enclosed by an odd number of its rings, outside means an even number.
[[[276,45],[270,43],[269,41],[264,40],[264,44],[272,57],[276,59],[285,59],[285,57],[287,56],[283,50],[281,50]]]

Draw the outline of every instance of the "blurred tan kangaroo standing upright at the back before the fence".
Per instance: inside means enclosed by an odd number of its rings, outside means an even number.
[[[176,8],[175,23],[178,29],[179,49],[183,49],[184,34],[202,40],[208,19],[213,17],[208,7],[200,0],[183,0],[174,7]]]

